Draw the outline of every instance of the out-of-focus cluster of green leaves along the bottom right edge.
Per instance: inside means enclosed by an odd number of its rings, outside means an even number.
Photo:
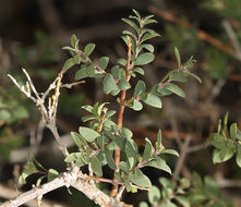
[[[224,198],[218,191],[216,182],[205,176],[204,180],[194,172],[192,182],[181,178],[172,182],[166,178],[158,179],[161,188],[153,185],[148,192],[150,206],[161,205],[161,207],[232,207],[232,203]],[[140,207],[147,207],[147,203],[140,203]]]

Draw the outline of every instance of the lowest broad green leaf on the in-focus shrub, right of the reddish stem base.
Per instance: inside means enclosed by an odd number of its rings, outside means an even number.
[[[128,175],[128,179],[138,185],[138,186],[142,186],[142,187],[150,187],[152,186],[152,183],[148,179],[148,176],[146,176],[145,174],[143,174],[143,172],[138,169],[135,169],[135,173],[134,174],[129,174]]]

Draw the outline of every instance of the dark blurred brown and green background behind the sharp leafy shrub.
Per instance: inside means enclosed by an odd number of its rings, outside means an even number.
[[[132,9],[142,15],[154,14],[158,24],[152,27],[161,35],[152,40],[156,60],[146,68],[144,80],[147,86],[177,66],[176,46],[183,62],[191,56],[197,61],[192,72],[201,76],[203,84],[190,78],[188,84],[181,85],[186,98],[164,98],[161,110],[145,107],[142,114],[126,110],[124,125],[134,132],[140,145],[146,136],[154,141],[158,129],[164,131],[165,145],[170,148],[177,148],[174,138],[184,141],[192,136],[191,147],[201,147],[188,155],[181,175],[191,178],[192,172],[197,171],[201,175],[212,175],[219,184],[224,180],[240,181],[240,169],[234,160],[214,166],[212,150],[202,147],[227,111],[229,122],[237,122],[241,127],[240,5],[239,0],[0,0],[0,186],[12,192],[14,187],[31,187],[17,186],[16,181],[26,161],[32,136],[39,131],[44,134],[39,149],[32,153],[46,168],[64,169],[62,157],[52,145],[52,136],[39,124],[35,106],[13,86],[7,74],[11,73],[24,83],[21,68],[25,68],[38,90],[44,92],[69,57],[61,48],[70,45],[72,34],[80,38],[83,47],[88,42],[96,44],[93,60],[108,56],[113,65],[118,58],[126,54],[120,36],[129,27],[121,19],[130,15]],[[67,83],[74,81],[76,70],[68,73]],[[85,84],[61,92],[57,124],[70,148],[69,132],[77,131],[83,124],[81,106],[116,101],[116,98],[104,95],[100,88],[99,80],[87,78]],[[111,107],[115,109],[117,105]],[[50,144],[52,151],[48,148]],[[176,160],[167,159],[174,169]],[[164,172],[146,171],[153,182],[155,178],[167,176]],[[32,181],[29,179],[29,183],[35,181],[35,176]],[[108,191],[109,186],[101,187]],[[220,184],[227,197],[237,204],[240,204],[240,187]],[[10,194],[0,193],[0,198],[10,197]],[[69,206],[94,206],[74,191],[73,196],[65,190],[58,190],[46,197]],[[144,192],[135,194],[134,198],[124,195],[124,200],[134,206],[143,198],[146,199]]]

